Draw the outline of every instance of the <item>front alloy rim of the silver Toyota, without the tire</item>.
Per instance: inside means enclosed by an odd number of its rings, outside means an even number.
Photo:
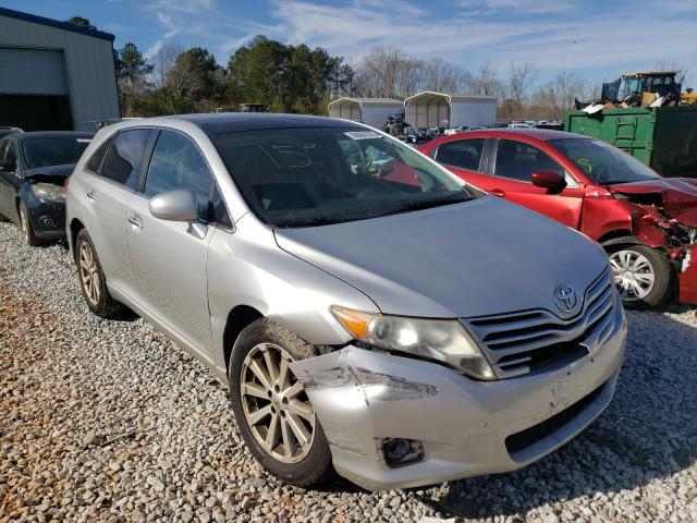
[[[293,357],[272,343],[255,345],[242,365],[240,392],[259,446],[282,463],[297,463],[313,447],[315,410],[289,368]]]

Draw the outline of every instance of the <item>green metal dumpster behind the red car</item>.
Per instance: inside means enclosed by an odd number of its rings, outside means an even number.
[[[697,107],[568,111],[564,131],[612,144],[664,177],[697,178]]]

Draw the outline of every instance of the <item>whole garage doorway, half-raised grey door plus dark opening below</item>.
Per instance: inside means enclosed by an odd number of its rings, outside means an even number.
[[[0,125],[73,129],[62,51],[0,47]]]

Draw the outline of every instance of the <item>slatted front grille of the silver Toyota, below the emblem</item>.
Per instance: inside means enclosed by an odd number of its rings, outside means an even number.
[[[606,269],[586,289],[580,311],[562,319],[546,309],[522,311],[463,319],[487,352],[497,375],[527,374],[561,357],[588,354],[589,343],[602,342],[613,325],[614,291]]]

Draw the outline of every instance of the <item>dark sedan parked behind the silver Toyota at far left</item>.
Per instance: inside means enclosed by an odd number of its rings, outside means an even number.
[[[14,133],[0,139],[0,220],[29,245],[65,238],[65,180],[91,133]]]

